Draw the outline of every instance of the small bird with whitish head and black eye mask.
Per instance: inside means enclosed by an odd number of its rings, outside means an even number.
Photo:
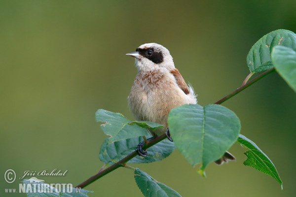
[[[136,52],[126,55],[135,58],[138,73],[128,96],[128,107],[137,120],[151,121],[164,127],[149,130],[153,137],[166,133],[173,141],[168,129],[168,114],[176,106],[197,103],[193,88],[187,85],[179,70],[175,67],[169,50],[157,43],[147,43],[139,46]],[[147,156],[147,151],[141,142],[137,152]],[[225,152],[216,164],[235,160],[230,153]]]

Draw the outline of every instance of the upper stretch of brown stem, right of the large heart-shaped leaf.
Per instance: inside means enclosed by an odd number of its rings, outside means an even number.
[[[275,71],[275,69],[274,68],[270,68],[269,70],[266,70],[266,71],[262,72],[257,77],[255,77],[254,79],[252,79],[251,81],[249,81],[249,83],[246,83],[246,84],[243,83],[239,88],[235,89],[232,93],[230,93],[229,95],[226,95],[222,99],[216,101],[214,104],[221,104],[222,102],[225,102],[226,100],[228,100],[228,99],[232,98],[233,96],[237,95],[238,93],[240,93],[241,91],[245,90],[246,88],[248,88],[249,86],[251,86],[255,82],[259,81],[261,78],[263,78],[267,74],[272,73],[273,71]]]

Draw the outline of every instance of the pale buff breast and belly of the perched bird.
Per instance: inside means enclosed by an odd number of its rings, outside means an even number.
[[[137,120],[164,125],[150,131],[154,136],[167,130],[167,117],[172,108],[188,103],[196,103],[193,89],[189,88],[186,95],[166,69],[138,73],[128,96],[128,106]]]

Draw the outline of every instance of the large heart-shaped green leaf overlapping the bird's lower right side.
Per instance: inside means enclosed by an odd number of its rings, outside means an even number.
[[[240,131],[235,113],[218,104],[175,107],[168,124],[177,149],[192,166],[202,163],[202,174],[207,164],[220,159],[231,147]]]

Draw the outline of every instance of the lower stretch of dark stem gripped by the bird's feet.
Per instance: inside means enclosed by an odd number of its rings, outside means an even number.
[[[166,134],[162,134],[158,137],[156,137],[155,139],[149,141],[147,144],[145,144],[143,146],[143,149],[148,149],[149,147],[153,146],[154,144],[160,142],[161,140],[165,139],[167,136]],[[128,156],[126,156],[125,158],[123,158],[122,160],[120,160],[119,162],[112,164],[111,166],[107,167],[104,170],[100,170],[97,174],[91,176],[89,179],[87,179],[86,181],[80,183],[79,185],[77,185],[75,188],[84,188],[86,186],[88,186],[89,184],[93,183],[94,181],[98,180],[99,178],[105,176],[106,174],[110,173],[111,171],[117,169],[118,167],[122,167],[125,165],[125,163],[127,163],[129,160],[131,160],[132,158],[136,157],[138,155],[138,153],[136,151],[132,152],[131,154],[129,154]]]

